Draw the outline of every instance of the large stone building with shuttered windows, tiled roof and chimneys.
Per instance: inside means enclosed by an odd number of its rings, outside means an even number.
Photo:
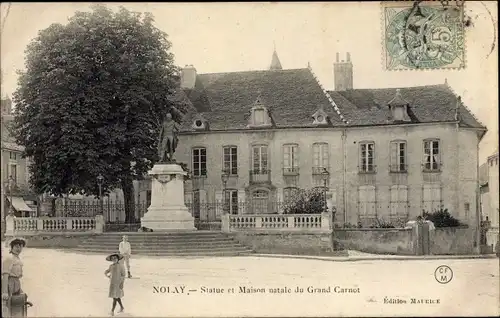
[[[486,128],[446,84],[353,89],[353,66],[334,63],[335,90],[310,67],[197,74],[182,69],[193,106],[176,159],[192,180],[186,201],[201,219],[280,213],[297,189],[323,187],[336,222],[406,219],[447,208],[477,224],[478,145]],[[227,181],[221,177],[227,175]],[[208,203],[208,204],[206,204]],[[205,208],[204,208],[205,207]]]

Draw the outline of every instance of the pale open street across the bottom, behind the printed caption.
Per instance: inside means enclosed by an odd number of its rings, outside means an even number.
[[[4,253],[6,251],[4,250]],[[106,316],[109,263],[103,255],[25,249],[23,289],[34,303],[29,316]],[[434,278],[439,265],[454,272]],[[144,316],[498,315],[498,259],[333,262],[259,257],[135,258],[125,282],[125,313]],[[224,293],[202,293],[202,287]],[[265,293],[240,293],[240,286]],[[330,293],[309,293],[308,287]],[[359,293],[339,293],[350,288]],[[155,287],[158,291],[155,293]],[[295,293],[296,287],[303,293]],[[181,291],[184,293],[174,293]],[[228,293],[234,288],[234,294]],[[270,293],[289,288],[291,293]],[[196,291],[189,291],[196,290]],[[162,293],[163,291],[164,293]],[[169,291],[169,293],[167,292]],[[280,290],[283,291],[283,290]],[[337,292],[335,292],[337,291]],[[407,304],[384,303],[388,299]],[[439,299],[439,304],[411,304]]]

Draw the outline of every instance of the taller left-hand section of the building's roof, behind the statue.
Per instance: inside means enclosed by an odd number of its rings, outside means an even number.
[[[311,116],[321,107],[331,126],[345,125],[307,68],[198,74],[195,88],[185,92],[197,112],[186,114],[181,131],[194,131],[197,113],[212,131],[247,129],[259,96],[275,128],[315,127]]]

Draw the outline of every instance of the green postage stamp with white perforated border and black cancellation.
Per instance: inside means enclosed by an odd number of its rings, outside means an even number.
[[[464,1],[381,5],[386,70],[465,68]]]

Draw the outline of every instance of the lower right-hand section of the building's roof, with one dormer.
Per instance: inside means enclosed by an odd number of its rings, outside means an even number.
[[[403,88],[353,89],[329,91],[340,112],[354,126],[395,124],[388,103],[397,96],[408,102],[411,123],[433,123],[455,121],[457,96],[446,84]],[[399,101],[398,101],[399,102]],[[461,125],[485,128],[460,102]]]

